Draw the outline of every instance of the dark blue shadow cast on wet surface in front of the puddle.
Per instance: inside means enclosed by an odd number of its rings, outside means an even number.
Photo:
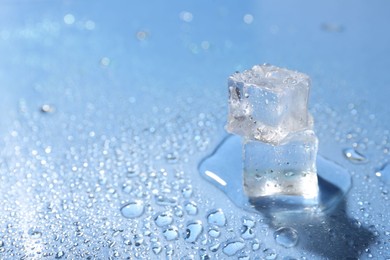
[[[321,182],[322,185],[326,184],[323,180]],[[334,189],[331,184],[328,185],[329,191]],[[295,229],[299,237],[297,247],[326,259],[358,259],[364,249],[375,242],[375,236],[370,230],[348,217],[344,199],[323,212],[290,210],[289,207],[272,208],[259,204],[255,208],[269,220],[272,229]]]

